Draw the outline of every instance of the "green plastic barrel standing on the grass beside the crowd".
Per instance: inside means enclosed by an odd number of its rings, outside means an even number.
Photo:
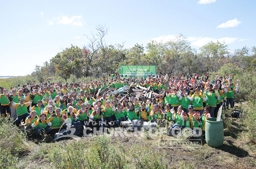
[[[224,128],[222,119],[216,122],[216,118],[208,118],[205,123],[205,140],[211,147],[220,147],[224,141]]]

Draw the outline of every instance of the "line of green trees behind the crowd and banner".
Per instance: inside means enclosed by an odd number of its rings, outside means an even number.
[[[217,72],[222,66],[230,65],[243,71],[255,71],[256,47],[246,46],[228,50],[225,42],[208,42],[200,47],[200,53],[191,47],[184,35],[169,42],[148,42],[144,47],[135,44],[124,48],[123,44],[106,45],[107,29],[100,25],[96,33],[87,37],[89,43],[83,47],[72,45],[58,52],[43,66],[36,65],[31,74],[39,81],[60,77],[67,80],[100,76],[116,71],[118,65],[156,65],[162,73],[184,75]]]

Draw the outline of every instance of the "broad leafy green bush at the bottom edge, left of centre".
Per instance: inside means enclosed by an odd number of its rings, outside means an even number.
[[[79,140],[58,145],[49,152],[49,161],[56,168],[124,168],[125,156],[104,135],[93,141]]]

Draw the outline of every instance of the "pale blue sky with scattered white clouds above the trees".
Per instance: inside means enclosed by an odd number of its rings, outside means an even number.
[[[183,34],[199,53],[210,41],[235,49],[255,46],[256,1],[110,0],[0,1],[0,76],[31,74],[71,44],[88,44],[97,25],[105,42],[167,42]],[[86,36],[85,36],[86,35]]]

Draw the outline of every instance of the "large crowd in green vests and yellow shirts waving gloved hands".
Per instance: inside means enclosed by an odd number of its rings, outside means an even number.
[[[42,132],[55,134],[67,126],[81,123],[99,129],[112,123],[116,127],[122,121],[143,120],[174,127],[199,127],[205,130],[207,118],[217,117],[222,105],[234,107],[234,94],[238,92],[239,79],[233,83],[232,74],[224,77],[209,74],[163,75],[145,77],[109,74],[90,82],[27,83],[18,88],[0,87],[0,111],[2,118],[13,120],[17,127],[33,132],[37,139]],[[167,83],[166,83],[167,82]],[[150,99],[138,100],[126,95],[121,101],[112,91],[97,96],[97,89],[123,86],[145,88],[157,93]],[[23,123],[22,123],[23,121]],[[21,125],[22,124],[22,125]]]

